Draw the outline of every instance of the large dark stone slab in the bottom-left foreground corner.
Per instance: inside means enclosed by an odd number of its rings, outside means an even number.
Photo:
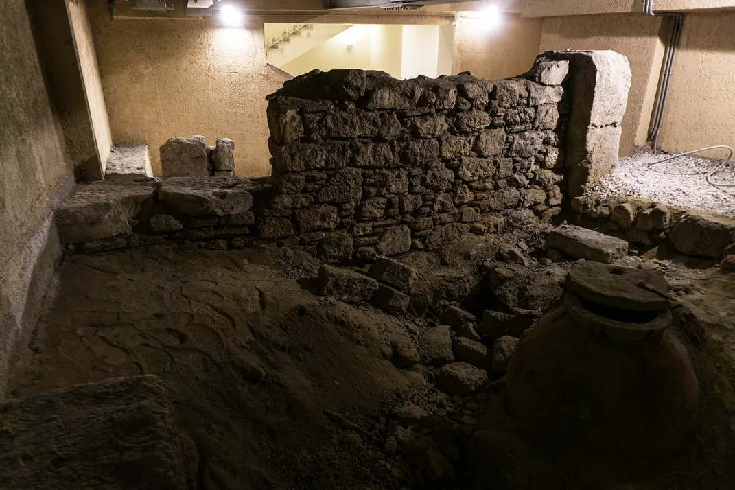
[[[184,489],[171,402],[151,375],[0,403],[4,489]]]

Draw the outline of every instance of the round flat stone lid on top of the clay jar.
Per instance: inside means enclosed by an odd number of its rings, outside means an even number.
[[[572,266],[565,286],[579,298],[609,308],[634,311],[669,308],[666,278],[655,270],[581,260]]]

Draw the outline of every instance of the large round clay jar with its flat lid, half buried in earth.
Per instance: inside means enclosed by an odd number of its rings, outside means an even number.
[[[518,342],[507,372],[511,415],[537,436],[631,455],[669,455],[694,428],[698,381],[667,328],[660,273],[576,263],[564,306]]]

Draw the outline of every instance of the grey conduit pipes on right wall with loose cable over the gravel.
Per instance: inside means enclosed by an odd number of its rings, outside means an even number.
[[[661,66],[661,76],[659,77],[659,92],[656,94],[656,103],[653,107],[650,129],[648,131],[648,140],[653,141],[653,154],[655,155],[659,147],[659,134],[661,134],[661,123],[664,120],[664,110],[666,109],[666,102],[669,98],[669,87],[671,85],[671,77],[673,75],[676,51],[678,51],[679,42],[681,41],[681,29],[684,26],[684,15],[678,12],[653,12],[653,0],[643,0],[643,13],[646,15],[652,15],[653,17],[670,17],[673,18],[674,22],[671,29],[669,43],[667,43],[666,50],[664,51],[664,62]],[[714,150],[716,148],[728,150],[730,154],[727,158],[723,159],[723,162],[715,167],[714,170],[711,170],[710,172],[699,172],[695,175],[706,174],[707,183],[717,188],[735,187],[735,184],[717,183],[712,179],[715,173],[719,172],[723,167],[725,167],[725,165],[728,165],[735,153],[733,148],[725,145],[709,146],[695,151],[687,151],[683,154],[670,156],[669,158],[659,160],[658,162],[650,163],[648,164],[648,167],[658,165],[663,162],[669,162],[670,160],[680,158],[681,156],[698,154],[702,151]]]

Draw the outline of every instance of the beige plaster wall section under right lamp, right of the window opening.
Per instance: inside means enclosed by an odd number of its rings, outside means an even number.
[[[471,71],[487,79],[526,73],[539,54],[542,22],[505,13],[500,25],[485,29],[481,18],[459,14],[454,31],[452,72]]]

